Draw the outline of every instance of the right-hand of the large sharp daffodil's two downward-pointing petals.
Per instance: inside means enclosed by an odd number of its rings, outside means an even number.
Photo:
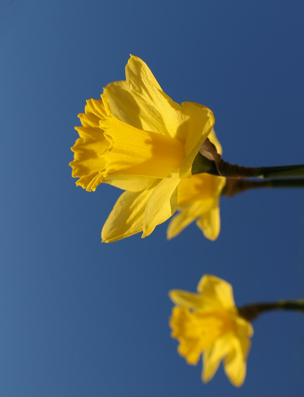
[[[180,179],[178,170],[167,175],[152,192],[147,202],[145,217],[143,219],[143,235],[152,233],[155,227],[165,222],[176,210],[176,187]]]

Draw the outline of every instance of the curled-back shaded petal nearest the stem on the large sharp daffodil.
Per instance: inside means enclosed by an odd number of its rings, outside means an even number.
[[[208,137],[214,125],[214,116],[210,109],[194,102],[182,102],[190,115],[190,126],[185,143],[185,160],[180,167],[180,179],[191,177],[191,168],[201,145]]]

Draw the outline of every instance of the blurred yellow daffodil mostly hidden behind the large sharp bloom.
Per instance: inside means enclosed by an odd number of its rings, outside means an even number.
[[[217,148],[217,152],[222,154],[222,147],[214,130],[208,138]],[[180,181],[177,188],[177,209],[180,213],[170,221],[167,238],[172,239],[196,220],[207,239],[217,239],[221,227],[219,199],[225,183],[225,177],[207,173],[192,175],[190,179]]]

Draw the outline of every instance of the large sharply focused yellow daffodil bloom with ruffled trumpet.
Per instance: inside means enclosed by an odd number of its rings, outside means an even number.
[[[106,220],[103,241],[149,235],[175,212],[178,184],[191,177],[213,113],[194,102],[174,102],[145,62],[131,56],[126,81],[110,83],[100,100],[87,100],[79,118],[70,163],[76,184],[87,191],[101,182],[126,190]]]

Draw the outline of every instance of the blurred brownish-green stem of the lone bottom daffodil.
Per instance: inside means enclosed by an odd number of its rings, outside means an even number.
[[[270,310],[296,310],[304,313],[304,299],[297,301],[277,301],[271,303],[253,303],[238,308],[240,316],[248,321],[256,319],[261,313]]]

